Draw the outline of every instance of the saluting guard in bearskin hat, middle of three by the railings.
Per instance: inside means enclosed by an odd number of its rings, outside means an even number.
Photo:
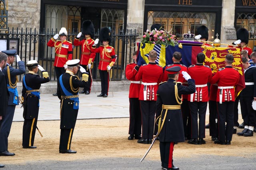
[[[81,35],[84,35],[84,39],[79,41]],[[94,44],[94,26],[91,21],[86,20],[82,23],[82,32],[78,33],[78,35],[74,39],[75,46],[81,46],[81,58],[80,58],[80,65],[86,69],[86,72],[90,72],[93,66],[93,61],[95,58],[95,53],[91,52],[93,48],[92,45]],[[94,47],[95,48],[95,47]],[[82,90],[80,93],[90,94],[92,86],[92,77],[89,74],[88,78],[88,86]]]

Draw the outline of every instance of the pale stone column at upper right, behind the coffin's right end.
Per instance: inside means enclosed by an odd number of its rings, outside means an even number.
[[[222,43],[231,44],[236,40],[236,29],[234,27],[235,6],[236,0],[222,0],[222,26],[220,37]]]

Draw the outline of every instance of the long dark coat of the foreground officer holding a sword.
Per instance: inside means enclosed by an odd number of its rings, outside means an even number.
[[[173,79],[168,79],[167,82],[160,84],[157,91],[156,111],[159,115],[162,111],[161,119],[162,123],[164,123],[159,135],[160,142],[184,141],[184,130],[180,109],[168,109],[165,122],[163,122],[166,109],[162,109],[162,105],[180,105],[175,98],[175,84],[176,82],[174,82]],[[177,83],[177,86],[179,98],[181,98],[182,94],[192,94],[196,91],[195,81],[193,79],[188,79],[188,86],[182,86],[181,83]]]

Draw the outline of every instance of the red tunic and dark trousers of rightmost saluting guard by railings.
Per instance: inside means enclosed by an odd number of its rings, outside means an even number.
[[[98,66],[101,81],[101,93],[108,95],[109,71],[107,66],[113,66],[116,62],[116,53],[114,47],[110,45],[103,46],[91,50],[92,53],[100,53],[100,63]]]

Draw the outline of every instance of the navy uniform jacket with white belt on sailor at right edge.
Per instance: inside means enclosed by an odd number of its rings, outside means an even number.
[[[244,80],[246,82],[252,82],[254,85],[246,85],[240,93],[241,97],[256,97],[256,66],[250,66],[244,72]]]

